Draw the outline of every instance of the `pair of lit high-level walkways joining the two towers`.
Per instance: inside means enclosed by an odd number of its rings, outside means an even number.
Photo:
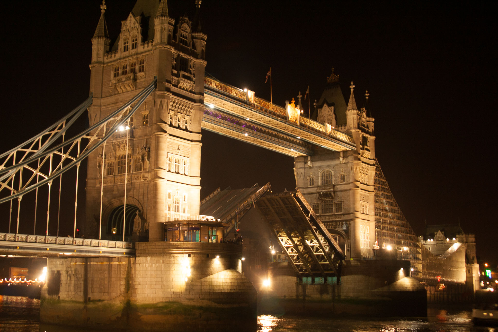
[[[201,125],[206,130],[292,157],[312,155],[313,145],[333,151],[356,147],[350,135],[256,98],[247,89],[209,77],[204,88],[206,108]]]

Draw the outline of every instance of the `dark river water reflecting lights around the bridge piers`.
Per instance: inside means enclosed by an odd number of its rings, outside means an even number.
[[[0,296],[0,332],[84,332],[39,323],[40,300]],[[258,332],[498,332],[498,328],[474,327],[470,311],[430,308],[427,319],[258,317]],[[92,330],[94,331],[94,330]],[[115,330],[101,332],[116,332]]]

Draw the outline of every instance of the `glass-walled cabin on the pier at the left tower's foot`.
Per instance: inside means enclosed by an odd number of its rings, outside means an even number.
[[[177,242],[223,242],[223,232],[230,224],[206,220],[175,220],[164,222],[166,241]]]

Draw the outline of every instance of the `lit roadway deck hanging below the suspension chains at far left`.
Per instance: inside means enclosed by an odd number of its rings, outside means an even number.
[[[0,254],[37,257],[134,257],[131,242],[0,233]]]

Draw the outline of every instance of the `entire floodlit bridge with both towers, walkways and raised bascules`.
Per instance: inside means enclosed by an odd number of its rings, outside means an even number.
[[[246,322],[252,330],[259,285],[243,274],[242,246],[225,242],[255,219],[286,257],[268,267],[274,286],[264,292],[289,312],[296,303],[316,310],[306,299],[325,301],[327,313],[337,312],[341,298],[389,299],[392,309],[400,297],[418,304],[412,314],[423,312],[425,289],[412,277],[424,273],[425,242],[375,158],[368,92],[359,108],[351,82],[346,105],[332,69],[308,118],[294,100],[280,107],[207,76],[207,35],[201,1],[195,4],[191,21],[170,16],[166,0],[138,0],[111,45],[103,1],[90,98],[0,156],[0,203],[10,202],[0,249],[49,257],[41,321],[150,331],[225,331]],[[68,139],[87,109],[90,127]],[[268,183],[217,190],[201,201],[202,129],[294,157],[296,191],[271,193]],[[84,160],[86,206],[78,207],[76,187],[73,236],[50,236],[51,186],[68,169],[78,177]],[[23,196],[37,198],[47,187],[46,233],[19,234]],[[76,236],[82,210],[85,238]]]

